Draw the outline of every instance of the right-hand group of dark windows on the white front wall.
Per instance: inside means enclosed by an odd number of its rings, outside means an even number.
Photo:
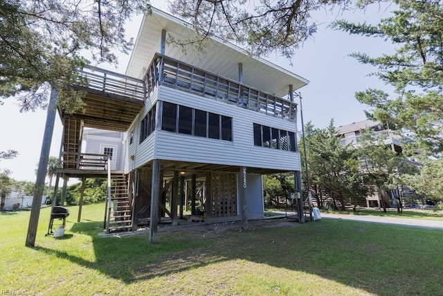
[[[296,133],[254,123],[254,145],[279,150],[296,151]]]

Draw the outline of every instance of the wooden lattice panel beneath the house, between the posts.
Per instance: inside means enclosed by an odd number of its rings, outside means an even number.
[[[237,216],[237,175],[211,173],[213,216]]]

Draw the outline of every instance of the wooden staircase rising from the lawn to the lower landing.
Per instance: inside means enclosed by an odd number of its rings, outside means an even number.
[[[132,198],[124,174],[111,174],[111,204],[107,202],[106,232],[132,230]]]

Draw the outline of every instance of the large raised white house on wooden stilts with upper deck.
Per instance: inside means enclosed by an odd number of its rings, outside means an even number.
[[[59,110],[63,176],[107,174],[107,146],[95,155],[96,140],[105,137],[84,128],[125,134],[119,139],[123,149],[117,148],[124,172],[110,173],[107,232],[149,221],[151,241],[159,221],[177,225],[184,218],[186,198],[190,220],[247,225],[248,218],[264,216],[262,174],[293,172],[301,193],[293,96],[309,81],[215,37],[205,52],[187,55],[166,42],[168,35],[186,40],[195,32],[153,8],[143,19],[125,75],[85,68],[89,85],[74,86],[87,92],[83,110]],[[87,146],[96,145],[81,153],[85,132]],[[196,208],[198,184],[206,190],[202,210]]]

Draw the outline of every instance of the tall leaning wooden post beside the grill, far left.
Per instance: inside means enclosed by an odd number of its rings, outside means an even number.
[[[39,166],[37,169],[37,180],[35,181],[33,205],[30,210],[28,234],[26,235],[26,247],[35,246],[35,237],[37,236],[37,226],[39,224],[40,209],[42,208],[42,198],[44,189],[44,180],[48,169],[49,153],[51,151],[51,141],[53,139],[55,113],[57,112],[57,91],[52,89],[49,98],[48,113],[46,115],[46,124],[42,141],[42,150],[40,150]]]

